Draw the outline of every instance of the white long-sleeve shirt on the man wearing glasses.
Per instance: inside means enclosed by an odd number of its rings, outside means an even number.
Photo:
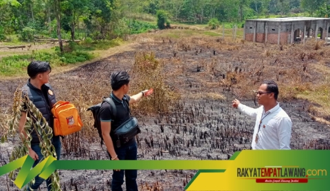
[[[292,120],[278,103],[267,112],[264,111],[263,106],[254,109],[240,103],[238,108],[244,114],[256,118],[252,149],[290,149]],[[258,133],[259,123],[262,118]],[[259,138],[256,143],[257,133]]]

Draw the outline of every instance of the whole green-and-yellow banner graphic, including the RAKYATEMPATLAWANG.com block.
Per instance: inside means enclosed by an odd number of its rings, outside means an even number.
[[[186,190],[329,190],[330,150],[241,151],[230,160],[56,160],[50,156],[32,168],[29,155],[0,166],[0,176],[17,168],[14,183],[21,189],[36,175],[44,179],[54,170],[198,170]],[[270,169],[281,168],[281,177]],[[202,170],[200,170],[202,169]],[[259,175],[252,171],[263,169]],[[290,170],[297,175],[286,175]],[[277,171],[277,170],[276,170]],[[274,171],[274,172],[276,172]],[[241,173],[239,173],[241,172]],[[250,173],[249,173],[250,172]],[[284,174],[283,174],[284,172]],[[299,174],[300,172],[300,174]],[[303,173],[305,172],[305,173]],[[201,175],[202,173],[202,175]],[[328,174],[329,173],[329,174]],[[302,177],[303,176],[303,177]],[[257,179],[304,179],[308,183],[260,183]],[[248,179],[247,179],[248,178]]]

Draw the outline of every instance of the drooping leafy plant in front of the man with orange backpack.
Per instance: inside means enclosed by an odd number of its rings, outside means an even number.
[[[25,104],[27,108],[25,111],[27,116],[23,131],[27,134],[27,138],[25,138],[23,132],[19,135],[22,142],[19,142],[19,144],[17,144],[12,150],[10,155],[10,162],[13,162],[14,160],[17,160],[29,153],[28,150],[29,147],[31,147],[32,140],[30,131],[36,131],[37,135],[39,136],[39,146],[41,147],[41,153],[43,154],[43,157],[46,158],[50,155],[56,157],[55,148],[51,141],[53,136],[52,128],[48,125],[47,121],[43,117],[43,114],[41,114],[39,109],[36,108],[36,106],[32,103],[32,101],[30,101],[28,97],[24,96],[24,99],[22,99],[22,93],[22,90],[18,89],[14,92],[14,103],[12,106],[13,114],[12,118],[10,118],[8,121],[8,133],[5,133],[5,135],[3,135],[1,138],[1,142],[5,142],[7,141],[8,136],[16,136],[17,129],[19,128],[19,121],[21,120],[21,111],[23,111],[23,105]],[[14,179],[17,178],[19,170],[20,168],[17,170],[12,170],[12,172],[9,174],[10,179],[14,181]],[[61,190],[60,177],[58,176],[57,171],[52,173],[50,179],[52,179],[52,190]],[[33,182],[34,179],[30,181],[30,183]]]

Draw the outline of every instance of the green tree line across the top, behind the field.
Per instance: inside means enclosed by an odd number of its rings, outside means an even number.
[[[329,13],[330,0],[0,0],[0,40],[12,34],[21,40],[32,40],[35,34],[60,41],[63,35],[71,40],[111,39],[129,34],[133,27],[153,28],[133,18],[153,21],[156,15],[169,25]],[[60,47],[62,51],[61,42]]]

